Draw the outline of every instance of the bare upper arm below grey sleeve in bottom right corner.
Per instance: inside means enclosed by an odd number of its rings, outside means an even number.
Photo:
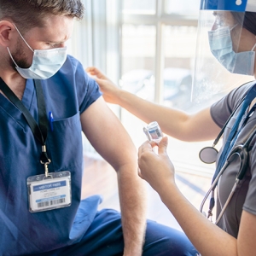
[[[241,224],[237,237],[238,255],[256,255],[256,216],[242,211]]]

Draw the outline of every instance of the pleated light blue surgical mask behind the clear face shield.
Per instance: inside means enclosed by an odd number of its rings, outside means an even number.
[[[236,53],[233,50],[232,38],[230,31],[234,28],[224,26],[208,32],[210,49],[212,55],[222,64],[230,73],[238,73],[253,76],[255,52],[254,44],[251,51]]]

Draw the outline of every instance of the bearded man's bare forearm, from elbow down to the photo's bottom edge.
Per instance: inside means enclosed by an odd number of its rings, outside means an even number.
[[[142,255],[146,229],[146,191],[145,183],[131,166],[118,171],[119,201],[125,240],[124,255]]]

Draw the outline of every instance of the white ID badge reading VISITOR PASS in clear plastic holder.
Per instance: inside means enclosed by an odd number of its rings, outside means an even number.
[[[71,205],[71,174],[51,172],[26,179],[29,212],[44,212]]]

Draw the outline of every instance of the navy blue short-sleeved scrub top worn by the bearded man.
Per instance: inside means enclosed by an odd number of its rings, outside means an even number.
[[[29,212],[26,178],[44,174],[41,144],[20,110],[0,94],[0,255],[42,253],[81,239],[101,201],[80,201],[83,148],[80,114],[102,95],[93,79],[72,56],[50,79],[42,80],[47,113],[54,115],[46,141],[49,172],[71,172],[72,205]],[[32,79],[26,80],[23,104],[38,122]]]

